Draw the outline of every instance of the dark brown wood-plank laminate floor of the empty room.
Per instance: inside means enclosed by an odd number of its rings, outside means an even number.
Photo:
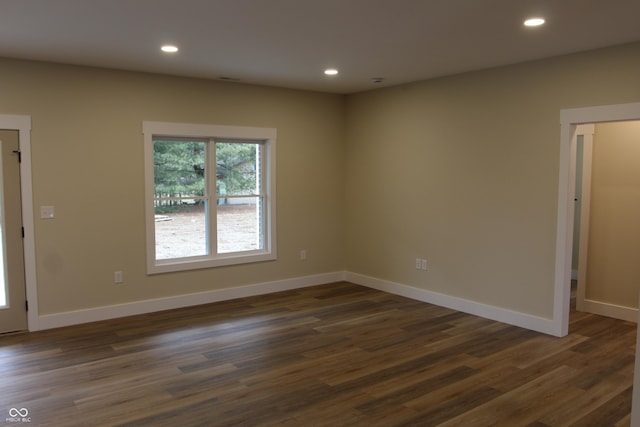
[[[0,426],[628,426],[635,324],[570,332],[335,283],[2,336]]]

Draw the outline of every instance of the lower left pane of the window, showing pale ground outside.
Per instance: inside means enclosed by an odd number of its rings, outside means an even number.
[[[155,212],[157,260],[208,255],[206,202]]]

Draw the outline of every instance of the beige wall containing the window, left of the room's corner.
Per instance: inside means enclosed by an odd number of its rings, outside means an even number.
[[[344,269],[343,97],[15,60],[0,89],[32,119],[36,215],[55,206],[35,219],[41,315]],[[146,275],[143,120],[277,128],[277,261]]]

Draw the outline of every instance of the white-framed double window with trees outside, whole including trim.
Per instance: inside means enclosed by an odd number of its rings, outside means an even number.
[[[276,258],[270,128],[144,122],[147,271]]]

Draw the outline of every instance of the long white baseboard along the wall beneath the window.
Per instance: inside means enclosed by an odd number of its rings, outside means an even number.
[[[118,317],[134,316],[137,314],[190,307],[212,302],[226,301],[235,298],[288,291],[292,289],[322,285],[325,283],[339,282],[342,280],[345,280],[345,273],[340,271],[334,273],[319,274],[315,276],[305,276],[273,282],[257,283],[253,285],[239,286],[236,288],[218,289],[207,292],[198,292],[194,294],[178,295],[168,298],[158,298],[126,304],[90,308],[85,310],[47,314],[38,316],[36,325],[32,325],[30,323],[29,330],[37,331],[70,325],[79,325],[82,323],[115,319]]]

